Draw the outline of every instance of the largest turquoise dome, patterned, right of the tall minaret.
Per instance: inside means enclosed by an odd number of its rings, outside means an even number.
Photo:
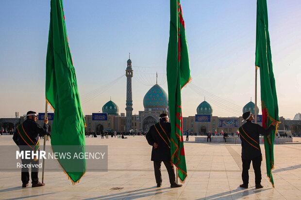
[[[167,93],[158,84],[155,84],[143,98],[145,111],[163,110],[167,111]]]

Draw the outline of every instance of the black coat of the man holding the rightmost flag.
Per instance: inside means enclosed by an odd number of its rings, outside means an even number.
[[[242,127],[252,139],[254,139],[256,142],[259,143],[259,134],[268,136],[268,134],[274,129],[275,126],[270,125],[268,129],[265,129],[261,125],[252,123],[250,120],[248,120],[246,123],[242,125]],[[240,139],[241,139],[241,147],[242,147],[241,158],[251,160],[254,157],[262,155],[261,150],[252,147],[249,144],[249,142],[247,142],[241,135],[240,135]]]

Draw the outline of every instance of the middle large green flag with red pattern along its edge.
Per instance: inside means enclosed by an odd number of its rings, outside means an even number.
[[[181,89],[190,80],[188,47],[180,0],[170,0],[170,29],[167,52],[168,104],[171,123],[171,161],[178,168],[179,178],[187,177],[184,143]]]

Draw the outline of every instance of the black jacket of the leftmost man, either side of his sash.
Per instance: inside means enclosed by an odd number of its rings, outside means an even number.
[[[48,132],[48,124],[44,123],[43,128],[33,120],[27,119],[23,123],[24,131],[36,143],[39,136],[45,136]],[[15,131],[13,140],[17,145],[27,145],[26,142],[20,137],[18,130]]]

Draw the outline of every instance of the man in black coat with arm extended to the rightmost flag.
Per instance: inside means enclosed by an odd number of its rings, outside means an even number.
[[[242,115],[246,121],[240,128],[240,139],[241,139],[241,159],[242,159],[242,181],[243,184],[239,185],[243,188],[248,188],[249,185],[249,169],[252,161],[254,173],[255,173],[255,188],[263,188],[261,185],[261,161],[262,154],[259,145],[259,134],[268,136],[269,133],[274,129],[277,121],[274,121],[268,129],[264,129],[262,126],[256,123],[252,123],[254,120],[253,114],[245,112]]]

